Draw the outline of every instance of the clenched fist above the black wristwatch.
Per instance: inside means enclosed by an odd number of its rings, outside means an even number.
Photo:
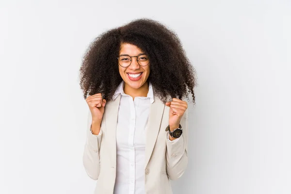
[[[176,97],[173,98],[173,101],[166,102],[166,106],[170,107],[169,111],[169,125],[171,131],[179,127],[181,118],[188,108],[186,101],[180,100]]]

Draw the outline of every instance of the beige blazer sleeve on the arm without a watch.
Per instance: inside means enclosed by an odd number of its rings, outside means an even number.
[[[83,165],[87,175],[97,180],[100,173],[100,143],[102,138],[102,126],[98,135],[94,135],[91,132],[92,115],[89,111],[87,121],[87,137],[85,148],[83,152]]]

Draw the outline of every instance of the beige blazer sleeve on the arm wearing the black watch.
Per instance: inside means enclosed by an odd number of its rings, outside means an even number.
[[[166,171],[171,180],[180,178],[188,164],[188,109],[182,116],[180,125],[183,133],[178,141],[166,141]]]

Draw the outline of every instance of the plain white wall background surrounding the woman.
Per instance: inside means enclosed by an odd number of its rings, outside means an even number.
[[[79,68],[101,32],[148,17],[198,76],[174,194],[291,194],[291,1],[0,2],[0,194],[92,194]]]

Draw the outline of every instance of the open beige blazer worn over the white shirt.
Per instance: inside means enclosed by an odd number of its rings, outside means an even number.
[[[113,194],[116,175],[116,124],[119,96],[105,105],[101,137],[91,134],[92,116],[88,113],[87,140],[83,165],[88,176],[97,180],[94,194]],[[168,142],[165,131],[169,125],[170,107],[154,96],[146,131],[145,190],[146,194],[172,194],[169,179],[182,176],[187,163],[188,110],[180,124],[183,129],[178,142]]]

